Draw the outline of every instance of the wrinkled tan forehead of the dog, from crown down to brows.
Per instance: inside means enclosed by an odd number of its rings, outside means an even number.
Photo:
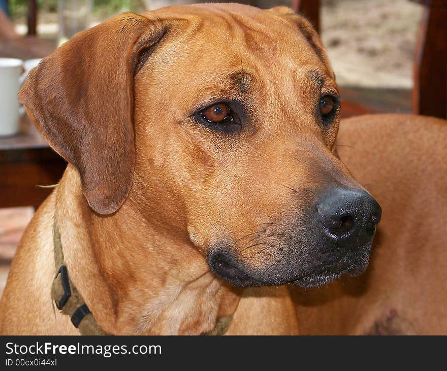
[[[280,91],[296,91],[304,81],[317,84],[330,76],[298,26],[273,12],[200,4],[155,14],[182,20],[147,67],[154,69],[152,84],[176,84],[177,89],[169,92],[171,104],[203,105],[251,88],[260,95],[278,91],[278,86]]]

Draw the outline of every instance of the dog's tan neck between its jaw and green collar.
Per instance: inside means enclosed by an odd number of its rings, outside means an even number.
[[[68,166],[55,216],[73,283],[112,334],[200,334],[231,315],[239,295],[210,272],[185,233],[157,230],[132,202],[111,216],[90,210]]]

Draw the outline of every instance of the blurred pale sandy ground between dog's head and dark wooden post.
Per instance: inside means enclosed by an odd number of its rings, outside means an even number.
[[[408,0],[325,3],[322,39],[340,85],[412,86],[421,5]]]

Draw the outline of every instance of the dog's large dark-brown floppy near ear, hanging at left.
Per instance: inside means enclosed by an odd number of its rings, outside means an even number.
[[[132,186],[134,75],[166,29],[133,13],[111,18],[44,58],[20,90],[26,112],[77,168],[85,198],[100,214],[118,210]]]

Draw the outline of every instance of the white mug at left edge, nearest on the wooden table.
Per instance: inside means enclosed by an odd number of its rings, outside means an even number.
[[[20,76],[23,61],[0,58],[0,137],[12,136],[19,131]]]

